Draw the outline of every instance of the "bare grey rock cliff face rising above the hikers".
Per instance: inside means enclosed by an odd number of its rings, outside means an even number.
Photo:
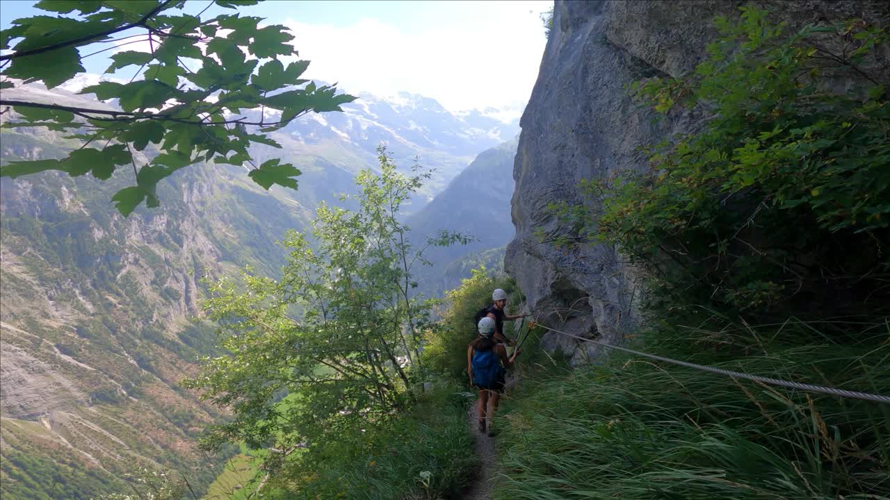
[[[705,56],[716,36],[712,20],[738,16],[734,1],[556,0],[553,29],[528,107],[514,164],[513,222],[516,237],[505,267],[528,298],[529,307],[555,327],[576,335],[620,342],[639,322],[640,289],[635,272],[611,246],[585,246],[569,253],[542,242],[569,229],[549,216],[547,204],[585,203],[578,181],[642,169],[641,146],[699,126],[700,112],[685,111],[653,122],[637,106],[627,85],[647,77],[678,77]],[[792,25],[886,13],[880,2],[760,2]],[[548,349],[579,362],[596,348],[562,335],[546,335]]]

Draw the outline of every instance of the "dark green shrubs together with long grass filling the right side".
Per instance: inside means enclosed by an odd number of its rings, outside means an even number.
[[[619,247],[646,276],[642,351],[756,375],[890,392],[886,92],[862,21],[785,34],[743,8],[709,58],[633,85],[697,133],[651,170],[555,204],[560,245]],[[839,91],[838,82],[843,82]],[[523,381],[506,401],[496,498],[885,498],[886,405],[611,353]]]

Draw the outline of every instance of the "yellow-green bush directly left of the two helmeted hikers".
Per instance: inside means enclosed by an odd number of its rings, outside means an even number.
[[[444,312],[436,327],[426,335],[422,358],[431,373],[462,383],[467,382],[466,348],[479,335],[473,327],[476,312],[491,304],[491,292],[495,288],[503,288],[508,294],[507,309],[515,309],[521,302],[512,278],[490,274],[485,267],[472,272],[472,277],[463,279],[460,286],[446,293]]]

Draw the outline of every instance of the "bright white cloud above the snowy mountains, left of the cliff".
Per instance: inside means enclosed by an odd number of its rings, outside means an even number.
[[[499,2],[491,19],[409,33],[380,20],[334,27],[287,20],[305,76],[347,92],[433,97],[454,111],[524,103],[546,39],[538,13],[551,2]]]

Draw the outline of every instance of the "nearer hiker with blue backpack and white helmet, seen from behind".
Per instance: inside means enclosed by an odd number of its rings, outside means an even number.
[[[504,393],[506,370],[514,366],[520,350],[507,357],[504,343],[494,340],[494,319],[487,316],[480,319],[478,329],[479,338],[470,343],[466,350],[466,371],[470,375],[470,382],[479,388],[479,431],[485,432],[487,420],[489,437],[493,437],[495,431],[491,428],[491,417],[498,409],[500,395]]]

